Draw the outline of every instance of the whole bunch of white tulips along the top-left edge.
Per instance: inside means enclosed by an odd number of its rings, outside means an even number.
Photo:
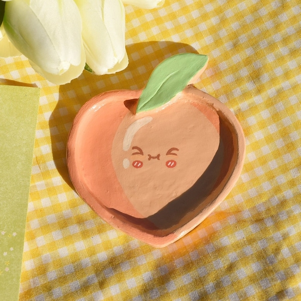
[[[38,73],[60,85],[77,78],[85,64],[98,75],[125,69],[123,3],[153,9],[165,0],[4,1],[0,57],[23,54]]]

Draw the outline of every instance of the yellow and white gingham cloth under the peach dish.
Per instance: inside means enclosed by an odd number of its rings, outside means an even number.
[[[166,0],[126,6],[129,66],[54,86],[25,57],[1,82],[41,87],[20,300],[301,300],[301,5],[298,0]],[[73,118],[92,96],[144,86],[180,52],[209,55],[199,89],[241,122],[246,160],[202,224],[156,249],[115,230],[75,193],[66,168]]]

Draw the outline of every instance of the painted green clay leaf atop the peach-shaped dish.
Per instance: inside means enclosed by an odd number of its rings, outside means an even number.
[[[136,113],[148,111],[169,102],[208,62],[208,56],[180,53],[160,63],[150,75],[138,100]]]

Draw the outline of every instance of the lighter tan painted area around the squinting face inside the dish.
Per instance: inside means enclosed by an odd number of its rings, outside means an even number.
[[[217,129],[191,104],[184,105],[180,118],[173,105],[146,114],[125,116],[111,153],[125,195],[144,217],[192,187],[219,145]]]

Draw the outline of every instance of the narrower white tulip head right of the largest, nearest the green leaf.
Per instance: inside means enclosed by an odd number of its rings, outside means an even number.
[[[75,0],[82,18],[86,62],[98,75],[127,66],[125,13],[120,0]],[[122,69],[121,69],[122,68]]]

